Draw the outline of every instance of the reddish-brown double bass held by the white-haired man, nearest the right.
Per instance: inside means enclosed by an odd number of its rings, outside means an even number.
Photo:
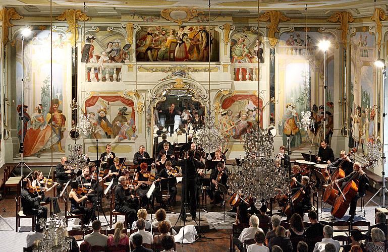
[[[372,161],[361,167],[367,168],[372,165]],[[331,208],[331,215],[341,219],[344,217],[346,211],[349,208],[350,202],[357,195],[358,192],[358,178],[360,177],[360,169],[352,175],[352,177],[342,186],[342,194],[340,194],[335,200],[333,207]]]

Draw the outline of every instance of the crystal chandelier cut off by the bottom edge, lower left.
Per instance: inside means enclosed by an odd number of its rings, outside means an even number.
[[[48,222],[43,218],[40,219],[38,225],[44,227],[46,231],[39,245],[33,248],[34,252],[69,251],[72,238],[66,236],[67,226],[65,219],[60,219],[58,215],[53,215]]]

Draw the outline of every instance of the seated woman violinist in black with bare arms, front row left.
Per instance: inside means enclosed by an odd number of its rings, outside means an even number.
[[[94,221],[95,219],[97,219],[94,212],[94,208],[82,206],[83,201],[87,200],[89,194],[91,194],[93,190],[90,189],[87,192],[83,192],[84,195],[81,196],[81,194],[77,194],[76,192],[78,189],[78,182],[76,180],[71,181],[70,186],[72,188],[69,193],[69,199],[71,203],[70,212],[72,214],[83,214],[83,226],[81,228],[85,228],[89,224],[90,220]]]

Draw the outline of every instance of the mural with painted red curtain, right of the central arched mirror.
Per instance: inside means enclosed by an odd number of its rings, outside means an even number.
[[[223,113],[218,115],[221,130],[225,132],[228,141],[243,141],[244,135],[257,125],[263,101],[254,94],[235,94],[223,100]],[[263,116],[260,114],[260,126]]]

